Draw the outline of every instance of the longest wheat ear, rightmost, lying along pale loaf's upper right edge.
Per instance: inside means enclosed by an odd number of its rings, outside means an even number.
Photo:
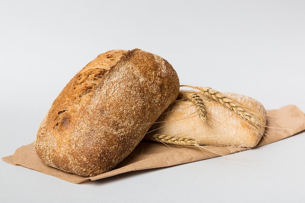
[[[210,99],[212,99],[213,101],[216,101],[217,103],[222,104],[224,107],[228,108],[229,110],[235,112],[238,116],[247,120],[250,124],[254,125],[255,127],[261,128],[262,126],[265,126],[265,124],[260,119],[258,119],[252,113],[245,110],[241,104],[225,96],[221,92],[212,90],[209,87],[203,88],[199,86],[190,86],[190,85],[181,85],[181,87],[190,87],[199,90],[202,94],[210,97]]]

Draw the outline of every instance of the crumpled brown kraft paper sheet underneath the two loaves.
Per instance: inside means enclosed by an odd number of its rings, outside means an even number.
[[[267,126],[272,128],[267,128],[266,135],[255,148],[285,139],[305,129],[305,114],[295,105],[288,105],[278,110],[269,110],[267,115]],[[71,183],[81,183],[87,180],[95,181],[136,170],[195,162],[217,157],[220,154],[226,155],[248,149],[206,146],[205,148],[203,150],[194,147],[167,146],[158,143],[141,142],[113,170],[93,177],[78,176],[44,165],[36,154],[34,142],[18,148],[13,155],[3,157],[2,159],[9,164],[25,166]]]

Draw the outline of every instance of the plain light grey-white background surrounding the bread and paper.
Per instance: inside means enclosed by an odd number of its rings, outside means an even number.
[[[1,0],[0,157],[35,140],[65,84],[112,49],[167,59],[181,84],[305,111],[303,0]],[[0,202],[305,199],[305,132],[265,147],[72,184],[0,160]]]

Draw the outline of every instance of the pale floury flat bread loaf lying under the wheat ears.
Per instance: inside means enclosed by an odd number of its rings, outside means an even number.
[[[223,103],[199,91],[180,92],[149,129],[145,140],[190,146],[255,147],[265,132],[264,106],[236,93],[223,93],[222,97]]]

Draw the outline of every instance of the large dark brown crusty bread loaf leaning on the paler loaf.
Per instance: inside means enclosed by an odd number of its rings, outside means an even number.
[[[121,162],[176,99],[179,80],[163,58],[139,49],[98,55],[59,93],[35,147],[48,166],[95,176]]]

